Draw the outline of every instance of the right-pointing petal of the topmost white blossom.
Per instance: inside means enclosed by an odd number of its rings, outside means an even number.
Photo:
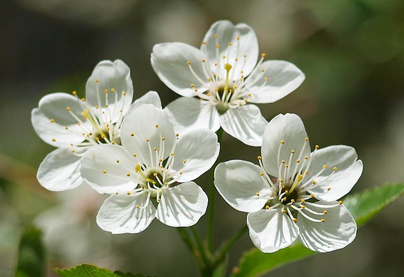
[[[305,78],[292,63],[266,61],[249,77],[246,90],[251,93],[252,103],[273,103],[298,88]]]

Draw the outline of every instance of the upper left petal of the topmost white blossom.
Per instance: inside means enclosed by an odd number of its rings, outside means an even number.
[[[204,59],[206,57],[203,52],[182,42],[156,44],[150,56],[151,66],[160,80],[185,97],[195,96],[194,89],[200,92],[208,90],[209,83],[202,63]],[[193,88],[191,84],[194,84]]]

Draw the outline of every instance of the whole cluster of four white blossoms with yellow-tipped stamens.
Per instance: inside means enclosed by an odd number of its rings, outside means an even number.
[[[124,62],[98,63],[85,98],[51,93],[32,111],[38,136],[57,147],[40,164],[39,183],[52,191],[85,183],[110,195],[96,221],[113,234],[142,232],[155,217],[172,227],[192,226],[208,205],[193,180],[217,160],[215,132],[223,128],[262,147],[259,166],[223,162],[214,181],[227,203],[248,212],[249,235],[259,249],[274,252],[297,238],[319,252],[346,246],[357,226],[340,198],[360,178],[362,161],[349,146],[316,145],[311,152],[297,115],[266,121],[252,103],[281,99],[305,75],[289,62],[258,56],[254,30],[229,21],[214,23],[199,49],[155,45],[151,66],[182,96],[164,109],[155,91],[132,102]]]

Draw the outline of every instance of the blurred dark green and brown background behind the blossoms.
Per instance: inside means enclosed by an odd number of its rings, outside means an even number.
[[[131,68],[135,98],[157,90],[163,105],[178,97],[155,75],[155,43],[199,46],[216,20],[255,29],[260,51],[284,59],[306,81],[282,100],[261,105],[270,120],[296,113],[313,143],[347,144],[364,161],[361,191],[404,181],[404,2],[328,1],[2,1],[0,43],[0,276],[13,275],[20,235],[27,225],[45,231],[52,268],[90,262],[113,270],[160,276],[194,276],[196,266],[175,229],[155,220],[137,235],[100,230],[95,215],[105,196],[82,186],[53,193],[35,174],[52,150],[34,133],[31,109],[46,93],[77,90],[96,63],[122,59]],[[221,160],[256,161],[260,148],[225,134]],[[208,190],[209,174],[197,180]],[[358,232],[345,249],[289,264],[268,276],[398,276],[402,274],[404,221],[401,199]],[[245,225],[246,214],[217,198],[216,245]],[[197,225],[205,233],[206,216]],[[234,265],[252,247],[247,235],[230,254]],[[231,270],[231,267],[229,267]]]

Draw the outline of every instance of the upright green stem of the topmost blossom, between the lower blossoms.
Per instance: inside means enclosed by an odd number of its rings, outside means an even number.
[[[218,136],[218,142],[222,144],[222,137],[223,137],[223,129],[220,128],[216,132]],[[220,145],[222,147],[222,145]],[[220,154],[219,154],[220,155]],[[208,232],[207,232],[207,244],[208,250],[212,252],[213,249],[213,233],[214,233],[214,219],[215,219],[215,201],[216,201],[216,188],[215,184],[213,183],[215,180],[215,169],[219,163],[219,157],[216,160],[215,164],[212,167],[212,179],[211,179],[211,187],[209,191],[209,204],[208,204]]]

